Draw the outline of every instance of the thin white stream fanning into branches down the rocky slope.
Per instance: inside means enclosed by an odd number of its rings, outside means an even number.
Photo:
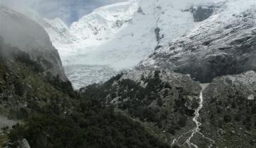
[[[185,140],[185,142],[182,144],[185,147],[189,147],[189,148],[199,148],[197,146],[197,144],[191,142],[191,139],[194,137],[195,134],[199,134],[200,136],[202,136],[204,139],[206,139],[207,141],[209,141],[209,145],[207,147],[212,147],[212,144],[214,144],[214,140],[210,139],[209,137],[206,137],[204,134],[202,134],[202,132],[200,132],[200,126],[202,125],[202,123],[200,123],[200,121],[198,121],[198,118],[200,116],[200,110],[203,107],[203,95],[202,92],[205,90],[205,88],[208,86],[209,84],[201,84],[202,90],[200,92],[200,101],[199,101],[199,106],[197,107],[197,109],[195,109],[195,116],[193,118],[193,122],[195,122],[195,128],[189,130],[188,132],[183,133],[180,137],[177,137],[176,139],[174,139],[171,143],[171,145],[173,144],[177,144],[179,140],[181,140],[182,137],[184,137],[185,135],[189,135],[188,139]]]

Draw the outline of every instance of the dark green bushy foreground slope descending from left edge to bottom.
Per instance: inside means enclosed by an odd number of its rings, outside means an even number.
[[[1,147],[169,147],[150,128],[79,97],[70,82],[43,71],[29,54],[0,40],[0,114],[20,120],[0,130]]]

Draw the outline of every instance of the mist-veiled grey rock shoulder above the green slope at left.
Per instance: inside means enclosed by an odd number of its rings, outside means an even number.
[[[5,42],[29,54],[44,68],[45,75],[67,80],[58,51],[47,32],[30,18],[0,5],[0,36]]]

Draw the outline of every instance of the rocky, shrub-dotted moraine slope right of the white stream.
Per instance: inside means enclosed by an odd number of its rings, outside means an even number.
[[[256,147],[256,73],[214,78],[203,93],[201,132],[218,147]],[[203,147],[205,140],[198,141]]]

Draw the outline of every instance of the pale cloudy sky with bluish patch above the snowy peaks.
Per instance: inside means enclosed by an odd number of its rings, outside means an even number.
[[[78,20],[95,8],[126,0],[0,0],[16,11],[32,8],[45,18],[59,17],[67,25]]]

